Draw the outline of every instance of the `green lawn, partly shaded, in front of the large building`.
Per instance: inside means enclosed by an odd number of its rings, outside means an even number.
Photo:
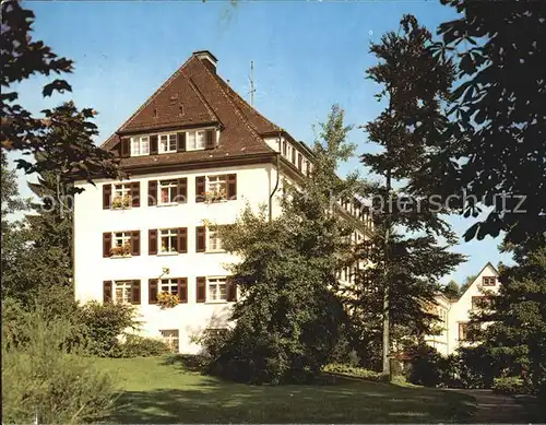
[[[468,396],[361,380],[254,387],[157,357],[100,358],[97,366],[123,390],[109,418],[116,423],[462,423],[475,409]]]

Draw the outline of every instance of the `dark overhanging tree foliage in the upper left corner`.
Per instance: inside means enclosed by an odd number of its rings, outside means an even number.
[[[93,143],[79,143],[84,139],[91,142],[91,138],[97,134],[96,127],[88,121],[96,114],[93,109],[78,110],[73,103],[68,103],[54,110],[43,110],[44,117],[37,118],[17,103],[17,83],[36,74],[64,74],[73,70],[71,60],[59,58],[44,42],[33,42],[33,23],[34,13],[23,9],[19,1],[2,2],[2,150],[20,151],[34,157],[55,149],[57,158],[62,160],[52,161],[51,155],[36,163],[15,160],[17,167],[27,174],[56,170],[62,166],[62,174],[70,172],[90,182],[98,169],[105,177],[118,177],[117,161],[111,153]],[[50,96],[54,92],[64,91],[70,92],[71,86],[67,81],[56,79],[44,86],[41,94]],[[74,149],[79,144],[85,150]]]

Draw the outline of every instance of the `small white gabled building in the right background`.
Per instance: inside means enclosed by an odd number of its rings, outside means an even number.
[[[443,294],[438,294],[436,297],[438,304],[435,308],[442,330],[438,335],[428,335],[427,343],[442,355],[452,354],[460,346],[468,345],[466,334],[471,312],[480,308],[483,305],[480,300],[487,293],[498,292],[498,276],[497,269],[488,262],[459,299],[450,300]]]

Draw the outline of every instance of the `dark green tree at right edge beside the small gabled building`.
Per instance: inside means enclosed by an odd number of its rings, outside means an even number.
[[[500,267],[498,295],[473,317],[474,338],[509,376],[527,376],[546,396],[546,245],[527,251],[522,246],[506,249],[517,265]]]

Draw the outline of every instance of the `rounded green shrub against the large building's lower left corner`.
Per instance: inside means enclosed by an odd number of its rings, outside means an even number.
[[[88,353],[99,357],[123,356],[120,354],[123,352],[120,339],[140,326],[134,307],[127,304],[90,302],[80,308],[78,315],[83,327],[81,338],[86,341]]]

